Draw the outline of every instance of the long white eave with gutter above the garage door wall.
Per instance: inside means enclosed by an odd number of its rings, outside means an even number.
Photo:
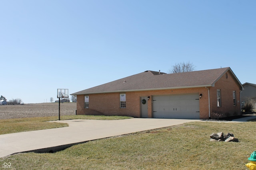
[[[120,92],[138,92],[138,91],[152,91],[152,90],[170,90],[179,88],[200,88],[200,87],[212,87],[212,84],[198,85],[198,86],[183,86],[183,87],[169,87],[169,88],[150,88],[150,89],[133,89],[133,90],[116,90],[116,91],[106,91],[106,92],[89,92],[89,93],[73,93],[70,95],[84,95],[84,94],[100,94],[100,93],[120,93]]]

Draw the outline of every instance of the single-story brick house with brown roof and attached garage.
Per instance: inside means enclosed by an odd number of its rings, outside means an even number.
[[[78,115],[208,119],[240,115],[243,86],[231,68],[166,74],[145,71],[82,90]]]

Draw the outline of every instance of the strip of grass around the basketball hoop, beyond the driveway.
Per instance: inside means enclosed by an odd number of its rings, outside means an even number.
[[[96,120],[116,120],[128,119],[125,116],[94,116],[94,115],[68,115],[61,116],[61,120],[67,119],[96,119]],[[0,119],[0,135],[8,133],[17,133],[24,131],[35,131],[42,129],[52,129],[58,127],[67,127],[67,123],[50,123],[46,121],[58,120],[58,116],[54,117],[33,117],[20,119]]]

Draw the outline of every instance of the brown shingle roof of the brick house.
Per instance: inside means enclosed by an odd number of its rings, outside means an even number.
[[[145,71],[71,95],[214,86],[215,82],[228,71],[242,89],[242,84],[232,70],[226,67],[174,74],[165,74],[163,72],[159,74],[159,72],[155,71]]]

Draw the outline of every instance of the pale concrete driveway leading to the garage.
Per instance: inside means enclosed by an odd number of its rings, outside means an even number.
[[[132,118],[52,121],[68,123],[69,127],[0,135],[0,158],[28,151],[55,152],[86,141],[179,125],[191,121],[200,120]]]

